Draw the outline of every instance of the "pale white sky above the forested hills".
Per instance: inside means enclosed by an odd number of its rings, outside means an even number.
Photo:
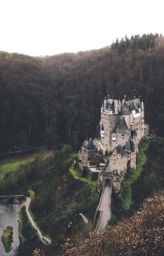
[[[55,55],[164,35],[163,0],[0,0],[0,51]]]

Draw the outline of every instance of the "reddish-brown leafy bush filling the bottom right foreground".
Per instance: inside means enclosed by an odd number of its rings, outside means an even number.
[[[129,220],[102,233],[91,232],[79,247],[66,241],[64,255],[163,255],[163,205],[163,195],[146,199],[142,210]]]

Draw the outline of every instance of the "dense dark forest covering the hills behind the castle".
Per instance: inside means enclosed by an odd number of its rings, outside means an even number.
[[[0,52],[0,152],[95,135],[102,98],[140,96],[150,133],[163,137],[164,37],[136,35],[107,48],[47,57]]]

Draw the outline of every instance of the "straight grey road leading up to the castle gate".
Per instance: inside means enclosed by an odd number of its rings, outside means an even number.
[[[101,214],[100,214],[100,219],[98,220],[98,226],[96,227],[96,229],[99,232],[102,232],[106,228],[106,225],[108,224],[108,220],[110,220],[110,216],[111,216],[111,208],[110,208],[111,187],[110,187],[110,185],[105,185],[100,200],[101,200],[101,203],[100,203],[100,207],[98,208],[98,210],[101,211]]]

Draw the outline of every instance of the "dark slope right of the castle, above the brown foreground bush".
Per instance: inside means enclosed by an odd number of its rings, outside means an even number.
[[[146,197],[163,191],[164,171],[164,140],[153,139],[148,147],[146,154],[146,164],[143,166],[140,179],[134,181],[132,185],[133,191],[133,207],[138,210]]]

